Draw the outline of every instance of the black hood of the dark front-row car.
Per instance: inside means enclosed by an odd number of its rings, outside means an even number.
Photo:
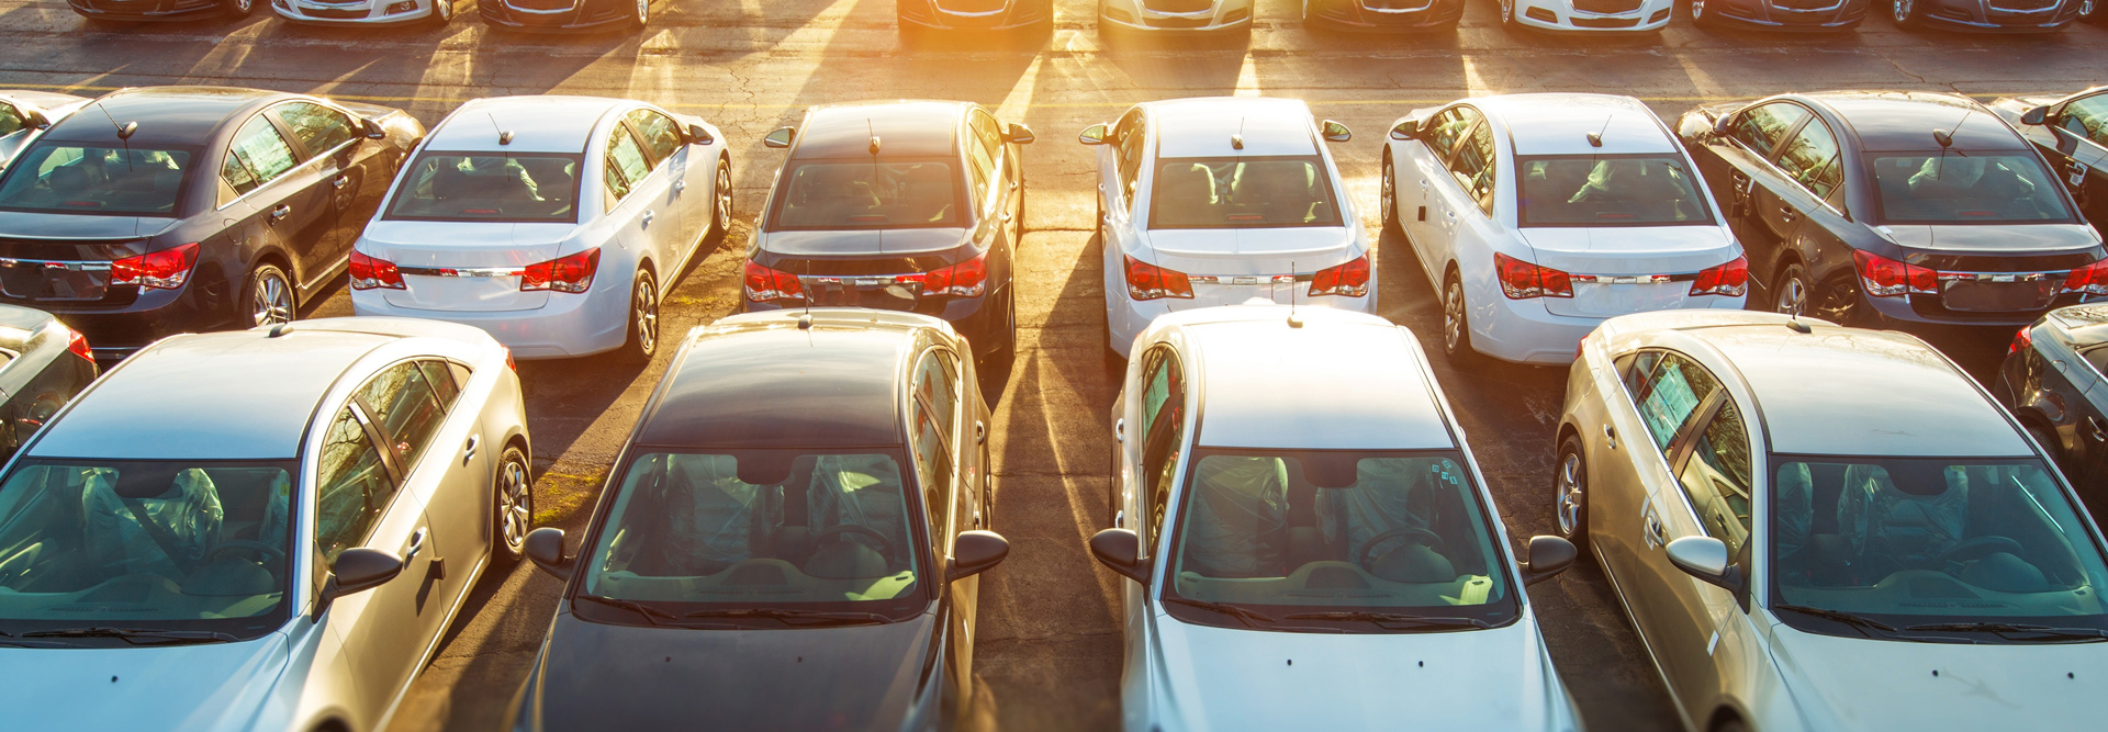
[[[841,629],[651,629],[559,614],[542,730],[885,730],[913,711],[934,616]]]

